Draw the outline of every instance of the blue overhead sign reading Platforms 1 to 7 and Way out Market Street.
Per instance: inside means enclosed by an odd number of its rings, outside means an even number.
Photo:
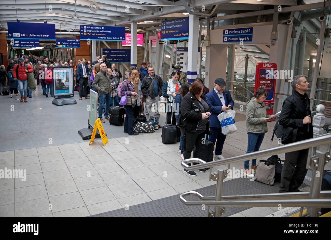
[[[162,21],[161,41],[188,39],[189,18]]]

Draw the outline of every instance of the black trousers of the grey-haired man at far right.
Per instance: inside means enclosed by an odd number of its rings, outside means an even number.
[[[308,149],[285,153],[279,192],[295,192],[303,183],[307,169]]]

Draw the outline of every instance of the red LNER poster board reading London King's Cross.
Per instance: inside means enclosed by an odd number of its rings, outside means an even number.
[[[276,70],[277,65],[275,63],[258,63],[256,65],[254,92],[259,87],[262,87],[269,93],[268,97],[265,101],[263,101],[267,110],[267,115],[273,114],[276,89]]]

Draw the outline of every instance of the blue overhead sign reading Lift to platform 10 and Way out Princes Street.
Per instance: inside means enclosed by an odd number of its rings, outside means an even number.
[[[125,27],[80,25],[80,40],[125,41]]]

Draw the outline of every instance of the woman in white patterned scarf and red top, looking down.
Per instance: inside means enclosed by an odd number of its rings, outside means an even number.
[[[176,125],[175,111],[174,109],[172,110],[172,108],[173,108],[173,102],[176,96],[176,92],[182,86],[182,84],[180,81],[178,81],[179,72],[172,72],[170,76],[171,78],[168,81],[166,81],[167,84],[166,94],[169,102],[166,104],[166,113],[167,113],[166,124]],[[171,122],[171,112],[172,112],[172,122]]]

